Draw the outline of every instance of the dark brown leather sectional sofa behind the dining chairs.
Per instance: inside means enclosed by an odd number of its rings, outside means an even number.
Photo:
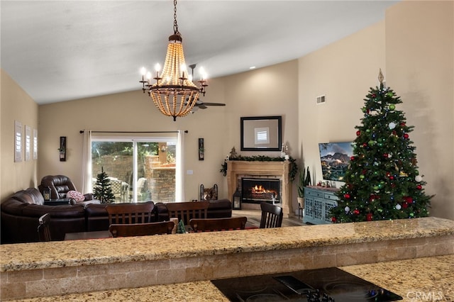
[[[109,230],[106,206],[106,203],[46,206],[38,189],[18,191],[1,203],[1,244],[38,242],[38,218],[45,213],[50,213],[52,240],[64,240],[65,233]],[[208,218],[231,216],[231,201],[228,199],[210,201]],[[154,205],[152,220],[169,220],[165,203]]]

